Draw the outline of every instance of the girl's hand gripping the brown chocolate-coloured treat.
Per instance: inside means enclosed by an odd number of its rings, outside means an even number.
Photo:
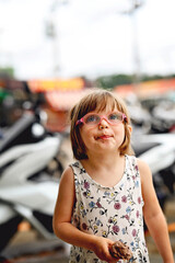
[[[93,251],[100,260],[106,261],[108,263],[116,263],[117,260],[114,259],[109,252],[109,248],[113,243],[114,241],[110,239],[97,237],[97,239],[95,239]]]

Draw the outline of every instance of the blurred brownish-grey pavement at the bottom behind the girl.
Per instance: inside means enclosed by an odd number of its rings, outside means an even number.
[[[170,236],[175,259],[175,232]],[[151,237],[147,237],[147,243],[151,263],[163,262]],[[44,240],[34,229],[28,229],[19,231],[2,255],[9,259],[9,263],[68,263],[69,249],[58,239]]]

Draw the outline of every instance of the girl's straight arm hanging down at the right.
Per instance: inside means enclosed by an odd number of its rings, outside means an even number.
[[[144,201],[143,215],[145,224],[155,241],[164,263],[174,263],[167,224],[154,191],[150,168],[141,160],[138,160],[138,165],[141,175],[142,196]]]

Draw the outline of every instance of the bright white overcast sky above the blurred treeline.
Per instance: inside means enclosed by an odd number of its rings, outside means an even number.
[[[0,0],[0,67],[25,80],[175,73],[175,1],[144,0],[135,15],[132,2]]]

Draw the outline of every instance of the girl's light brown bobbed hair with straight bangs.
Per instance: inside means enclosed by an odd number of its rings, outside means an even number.
[[[115,108],[127,116],[127,121],[124,122],[125,138],[119,147],[120,155],[135,155],[131,148],[130,132],[128,128],[128,125],[130,125],[130,117],[124,100],[110,91],[94,89],[88,95],[83,96],[70,111],[70,140],[73,156],[77,160],[88,159],[85,146],[80,133],[81,125],[75,125],[77,121],[89,112],[101,112],[104,110],[114,111]]]

